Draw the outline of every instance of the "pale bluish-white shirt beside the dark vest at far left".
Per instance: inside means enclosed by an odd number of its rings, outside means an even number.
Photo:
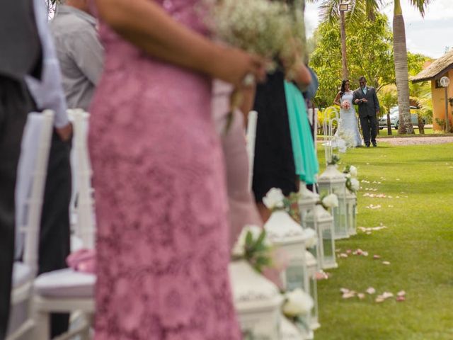
[[[54,125],[63,128],[69,124],[66,101],[62,88],[62,77],[59,72],[59,64],[55,55],[55,47],[47,24],[47,7],[42,0],[34,0],[36,27],[42,46],[42,73],[41,79],[25,76],[30,94],[35,99],[38,109],[47,108],[55,111]]]

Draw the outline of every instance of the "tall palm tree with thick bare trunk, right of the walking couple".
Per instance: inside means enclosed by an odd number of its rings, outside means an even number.
[[[318,2],[319,0],[310,0],[310,2]],[[322,0],[321,16],[323,20],[338,16],[335,8],[338,8],[340,0]],[[408,0],[412,6],[418,9],[421,16],[425,16],[425,9],[432,0]],[[369,18],[373,17],[373,13],[382,5],[382,0],[351,0],[352,18],[357,17],[355,13],[362,13],[364,10]],[[413,128],[411,124],[411,113],[409,111],[409,76],[408,76],[408,60],[406,48],[406,30],[404,28],[403,11],[401,9],[401,0],[394,0],[394,62],[396,75],[396,89],[398,89],[398,107],[400,122],[398,132],[400,134],[412,134]],[[343,43],[343,42],[342,42]]]

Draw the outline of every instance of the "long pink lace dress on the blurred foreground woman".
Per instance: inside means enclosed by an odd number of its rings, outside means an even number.
[[[197,1],[158,2],[203,32]],[[95,339],[240,339],[211,80],[147,57],[102,24],[101,39],[105,69],[89,135]]]

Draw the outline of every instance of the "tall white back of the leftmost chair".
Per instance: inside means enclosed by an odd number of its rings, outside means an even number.
[[[38,271],[42,200],[55,113],[30,113],[23,130],[16,181],[16,257]]]

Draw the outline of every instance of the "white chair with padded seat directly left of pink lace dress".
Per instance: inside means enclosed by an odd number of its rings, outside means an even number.
[[[95,225],[93,218],[93,199],[91,189],[91,166],[88,157],[87,132],[88,113],[81,110],[70,112],[74,128],[73,155],[71,157],[73,176],[75,177],[74,202],[71,207],[75,212],[74,234],[81,240],[81,246],[93,249]],[[76,202],[76,203],[75,203]],[[74,244],[74,243],[73,243]],[[74,250],[74,249],[73,249]],[[62,334],[57,339],[71,339],[81,334],[82,339],[89,338],[89,328],[94,313],[93,291],[96,276],[81,273],[72,268],[44,273],[35,280],[35,334],[33,339],[50,339],[50,313],[79,313],[84,321],[78,327]]]

